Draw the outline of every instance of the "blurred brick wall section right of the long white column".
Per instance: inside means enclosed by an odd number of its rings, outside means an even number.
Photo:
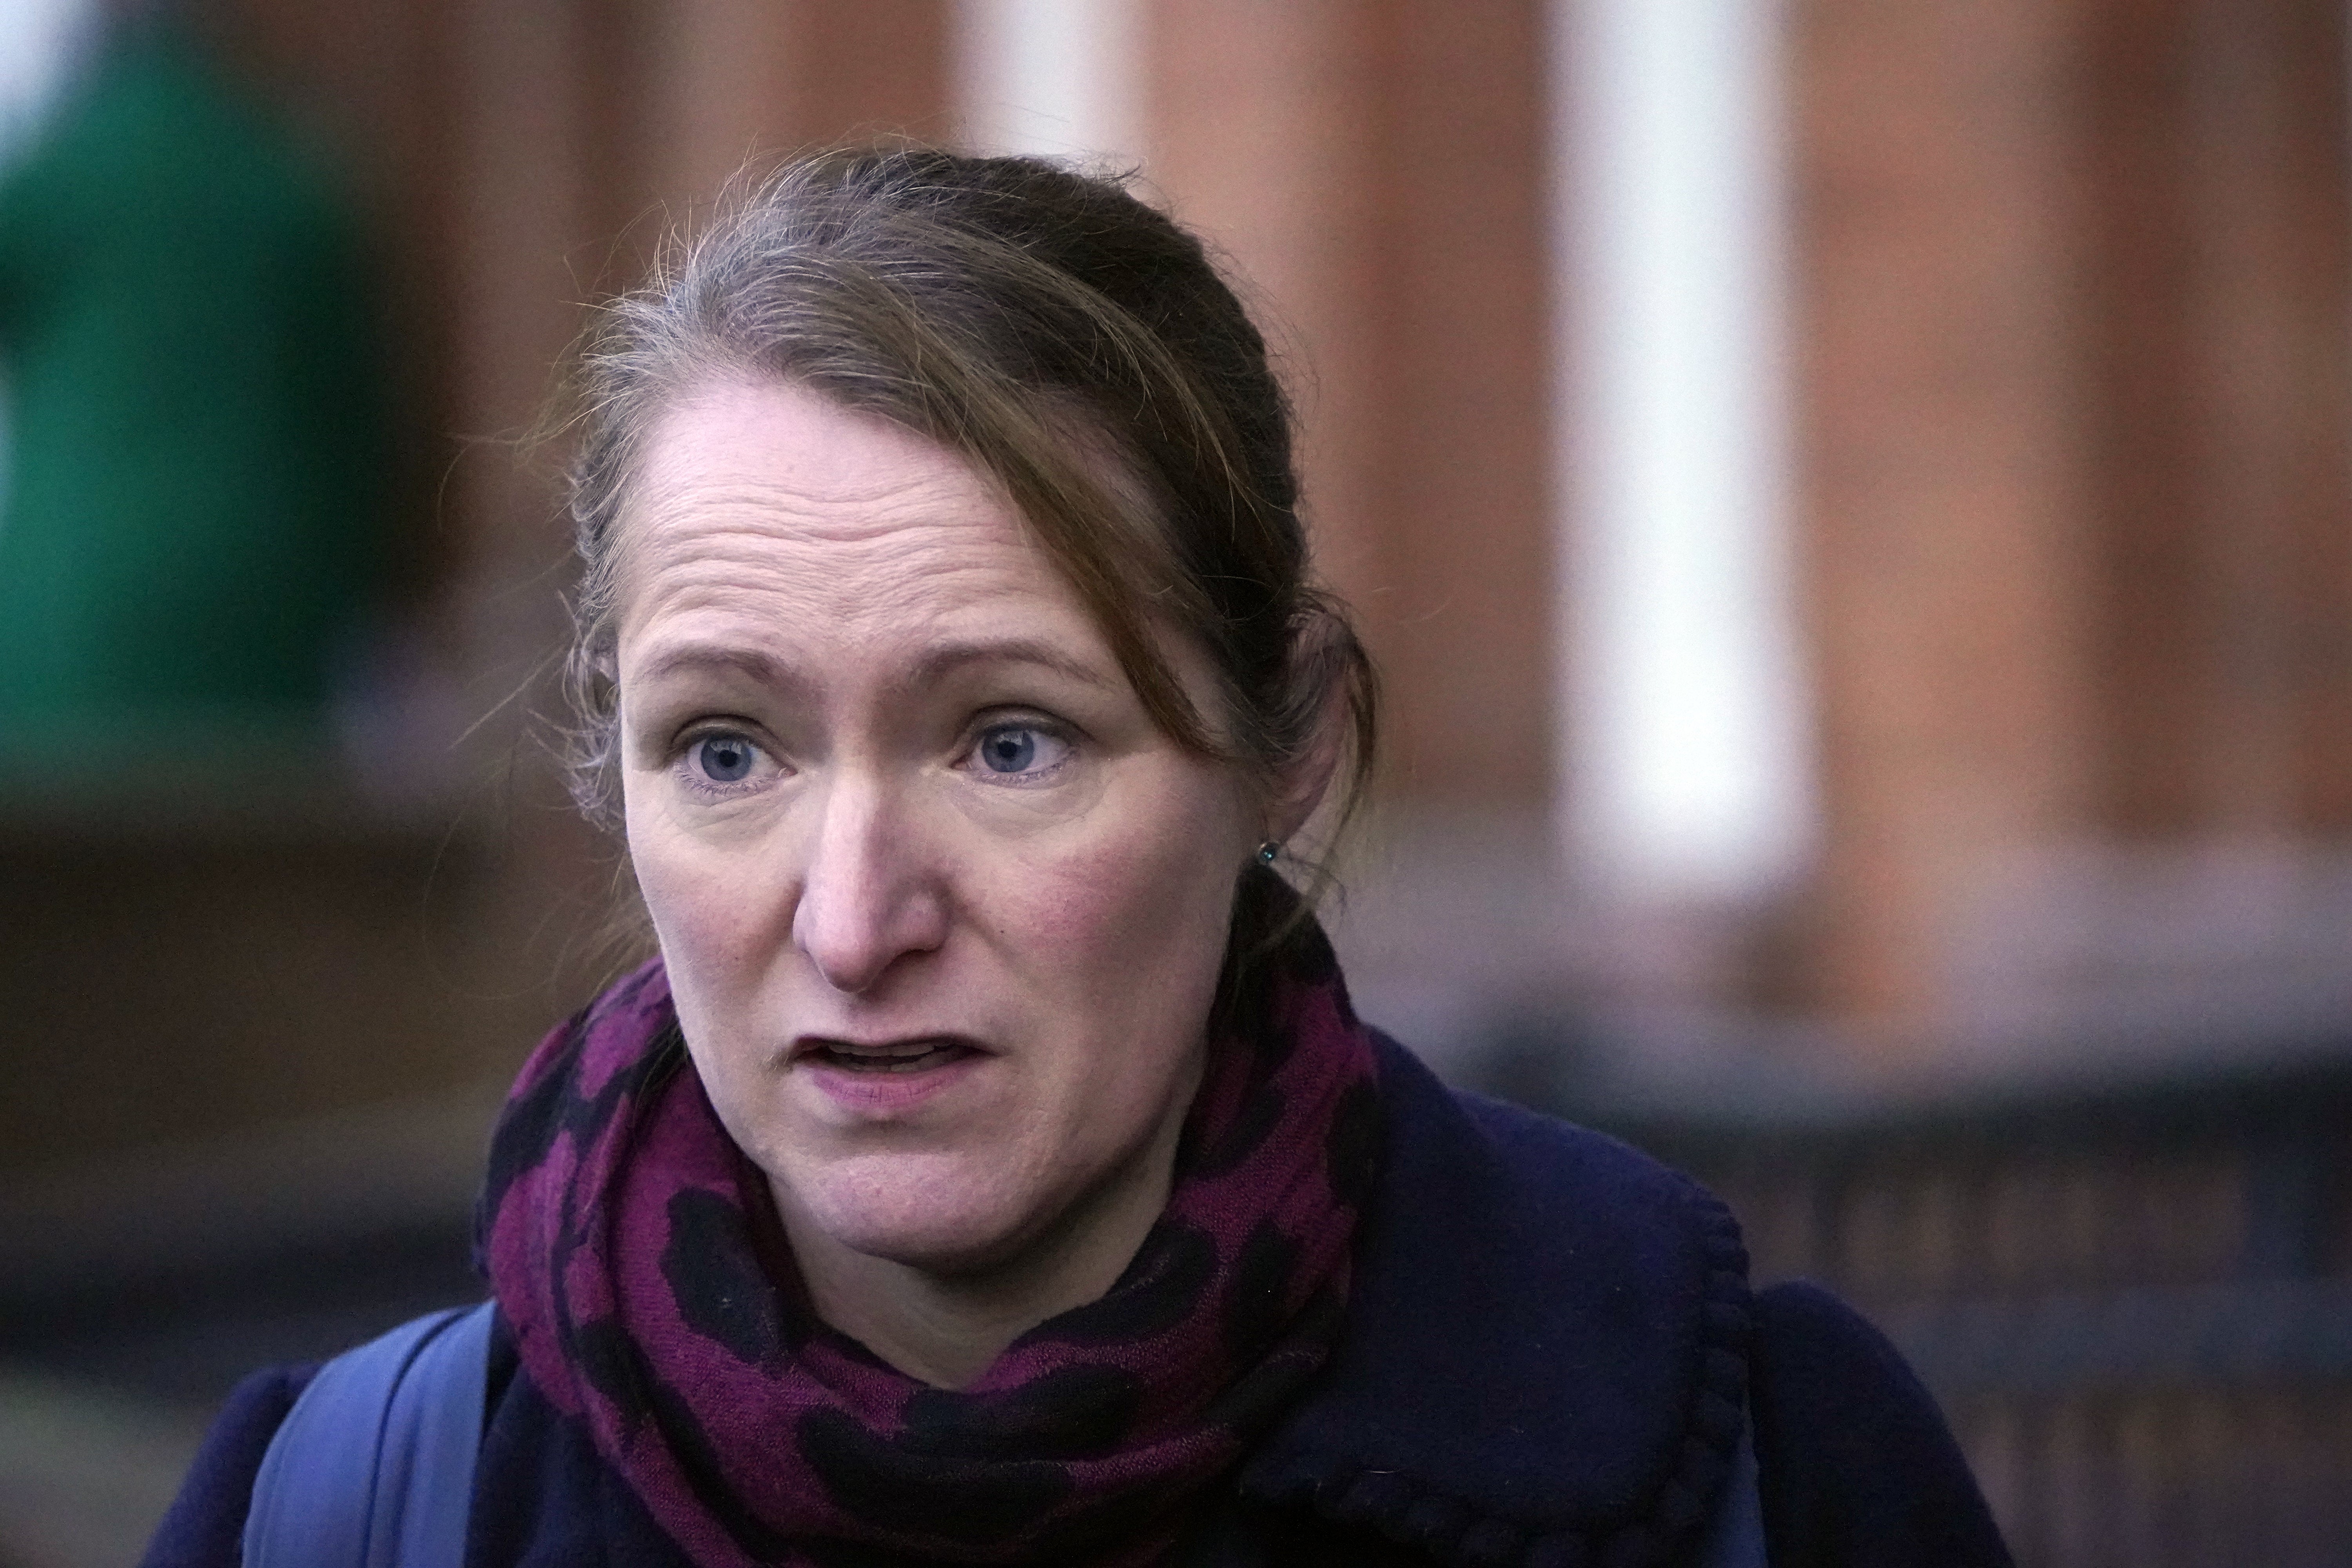
[[[2246,959],[2211,1011],[2340,1009],[2286,929],[2352,830],[2343,7],[1790,14],[1811,1006],[1919,1051]]]

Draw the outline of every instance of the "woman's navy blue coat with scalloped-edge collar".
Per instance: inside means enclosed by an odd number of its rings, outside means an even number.
[[[1750,1298],[1738,1232],[1691,1180],[1454,1093],[1385,1039],[1381,1100],[1345,1335],[1188,1563],[1672,1563],[1715,1505],[1743,1389],[1773,1568],[2009,1563],[1896,1349],[1813,1286]],[[235,1568],[254,1472],[306,1380],[238,1387],[146,1568]],[[466,1559],[687,1568],[503,1331]]]

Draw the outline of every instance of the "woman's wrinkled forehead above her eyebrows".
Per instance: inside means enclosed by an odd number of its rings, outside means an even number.
[[[661,416],[619,590],[623,646],[680,623],[873,642],[1014,621],[1098,642],[990,475],[797,386],[713,386]]]

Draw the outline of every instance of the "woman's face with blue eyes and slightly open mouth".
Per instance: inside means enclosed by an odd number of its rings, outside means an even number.
[[[1164,1180],[1256,806],[981,470],[793,386],[680,402],[619,691],[687,1046],[788,1222],[969,1272]]]

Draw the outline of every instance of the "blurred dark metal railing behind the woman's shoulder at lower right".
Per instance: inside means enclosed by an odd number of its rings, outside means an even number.
[[[2020,1566],[2352,1563],[2352,1044],[1933,1107],[1543,1100],[1879,1321]]]

